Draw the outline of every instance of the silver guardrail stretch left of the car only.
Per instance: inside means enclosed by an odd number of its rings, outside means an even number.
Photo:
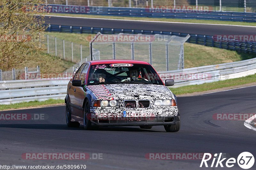
[[[0,104],[63,99],[67,94],[66,80],[0,81]]]

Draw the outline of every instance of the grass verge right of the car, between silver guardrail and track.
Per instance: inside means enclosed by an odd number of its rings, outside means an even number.
[[[220,89],[224,87],[232,87],[236,85],[245,85],[245,84],[254,83],[254,82],[256,82],[256,74],[242,77],[242,78],[234,78],[229,80],[218,81],[214,83],[204,83],[202,85],[188,85],[188,86],[170,88],[170,89],[174,94],[181,95],[181,94],[189,94],[194,92],[204,92],[208,90],[215,90],[215,89]]]

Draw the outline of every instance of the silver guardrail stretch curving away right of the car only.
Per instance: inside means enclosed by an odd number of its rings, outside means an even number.
[[[186,85],[199,85],[255,74],[256,58],[233,63],[162,71],[158,73],[163,80],[170,78],[174,79],[175,85],[172,86],[173,88]]]

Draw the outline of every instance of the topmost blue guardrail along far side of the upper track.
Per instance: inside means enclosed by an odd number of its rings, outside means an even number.
[[[49,5],[49,12],[75,13],[91,15],[110,15],[121,17],[148,17],[148,18],[176,18],[176,19],[204,19],[221,21],[256,22],[256,13],[248,12],[220,12],[220,11],[187,11],[154,10],[150,8],[125,7],[97,7],[75,5]],[[154,12],[155,11],[155,12]]]

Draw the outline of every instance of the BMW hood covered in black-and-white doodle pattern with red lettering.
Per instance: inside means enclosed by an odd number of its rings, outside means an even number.
[[[173,93],[164,85],[111,84],[89,85],[86,88],[94,94],[95,100],[174,99]]]

